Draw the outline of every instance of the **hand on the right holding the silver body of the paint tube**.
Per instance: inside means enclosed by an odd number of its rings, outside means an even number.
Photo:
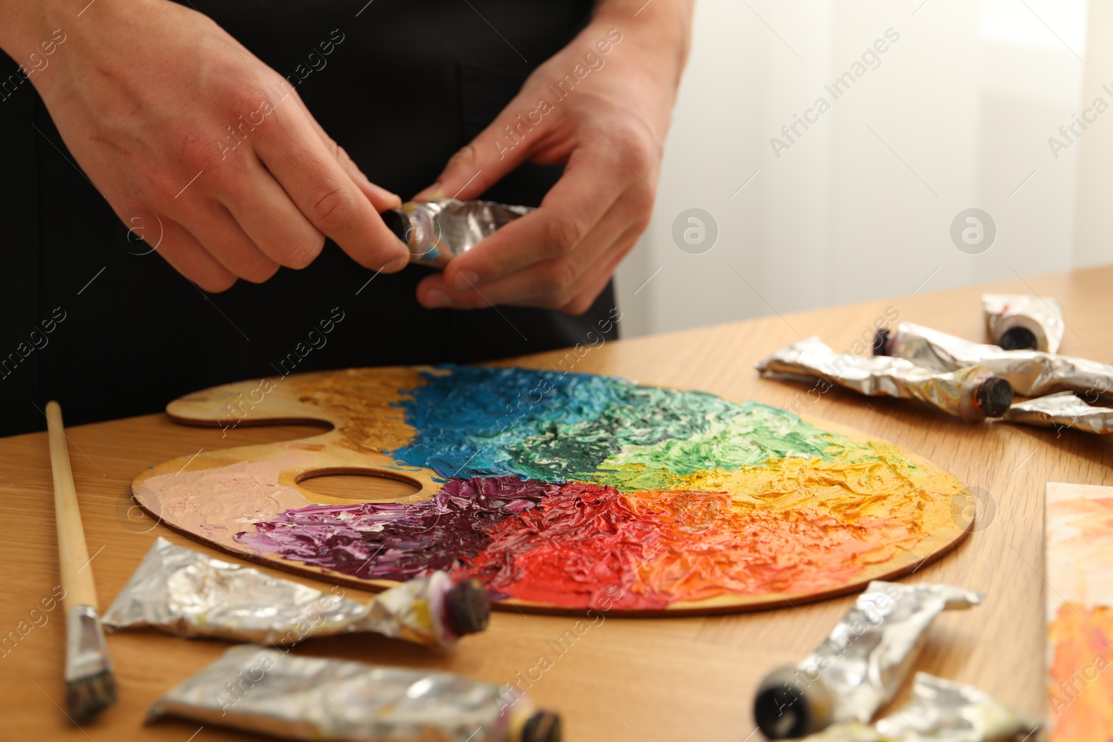
[[[426,307],[580,314],[649,225],[690,3],[602,2],[575,40],[415,198],[475,198],[523,161],[565,164],[540,208],[425,278]],[[652,14],[657,12],[657,17]]]

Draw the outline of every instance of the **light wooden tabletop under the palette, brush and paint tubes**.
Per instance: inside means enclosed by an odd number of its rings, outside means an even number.
[[[972,489],[981,488],[991,506],[979,513],[976,532],[953,553],[905,581],[948,582],[985,591],[985,602],[967,612],[942,615],[916,669],[973,683],[1022,710],[1042,714],[1044,485],[1048,481],[1113,484],[1113,436],[1056,434],[1004,423],[968,425],[916,403],[866,399],[838,388],[809,403],[809,386],[761,379],[752,364],[812,334],[838,350],[858,352],[855,342],[868,342],[875,320],[895,313],[900,320],[981,338],[978,297],[983,290],[1061,297],[1070,323],[1063,353],[1110,363],[1111,285],[1113,267],[1105,267],[772,315],[581,349],[574,370],[788,406],[897,442],[949,469]],[[565,358],[565,353],[514,362],[546,368]],[[569,363],[563,367],[569,368]],[[91,566],[101,609],[117,595],[157,536],[216,554],[131,509],[131,479],[139,472],[199,448],[318,432],[315,427],[239,427],[221,439],[219,429],[177,426],[161,414],[68,429],[86,537],[90,553],[96,553]],[[161,693],[215,660],[226,643],[154,631],[111,635],[120,701],[83,729],[68,724],[58,708],[65,698],[65,617],[60,607],[35,611],[59,580],[46,434],[0,439],[0,515],[8,524],[0,540],[0,570],[8,594],[0,604],[0,636],[9,637],[0,646],[0,698],[4,700],[0,736],[187,742],[198,732],[198,724],[144,725],[145,711]],[[322,586],[311,580],[302,582]],[[354,590],[348,595],[366,597]],[[294,652],[529,684],[540,705],[562,714],[565,739],[571,741],[737,742],[749,739],[755,729],[750,706],[761,676],[776,665],[799,661],[817,646],[851,600],[728,616],[610,616],[574,643],[565,643],[563,654],[554,651],[555,640],[572,629],[575,619],[515,612],[496,613],[487,632],[465,639],[452,653],[375,635],[313,640]],[[18,632],[14,644],[10,641],[13,631]],[[528,680],[530,673],[538,677],[534,669],[542,655],[551,666],[540,679]],[[206,725],[193,739],[255,738]]]

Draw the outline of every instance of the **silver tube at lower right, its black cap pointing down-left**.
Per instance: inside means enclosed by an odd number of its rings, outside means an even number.
[[[899,689],[935,616],[981,602],[979,593],[952,585],[875,580],[819,649],[766,675],[754,701],[755,721],[770,740],[839,722],[868,723]]]

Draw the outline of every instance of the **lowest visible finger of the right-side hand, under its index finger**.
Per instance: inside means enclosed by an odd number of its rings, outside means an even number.
[[[446,295],[456,308],[481,308],[489,304],[514,304],[558,308],[582,291],[583,277],[610,255],[611,246],[634,228],[644,228],[644,218],[633,209],[633,198],[624,197],[570,254],[531,265],[484,286],[453,290],[446,279],[430,276],[418,286],[418,298],[434,303]],[[429,306],[429,304],[426,305]]]

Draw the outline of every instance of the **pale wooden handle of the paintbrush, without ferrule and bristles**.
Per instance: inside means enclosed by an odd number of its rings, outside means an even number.
[[[58,561],[66,591],[62,605],[67,611],[75,605],[96,607],[97,587],[92,582],[92,566],[88,564],[89,550],[85,545],[81,511],[77,507],[77,489],[73,488],[73,472],[70,471],[62,428],[62,408],[57,402],[47,403],[47,435],[50,438],[50,471],[55,477]]]

